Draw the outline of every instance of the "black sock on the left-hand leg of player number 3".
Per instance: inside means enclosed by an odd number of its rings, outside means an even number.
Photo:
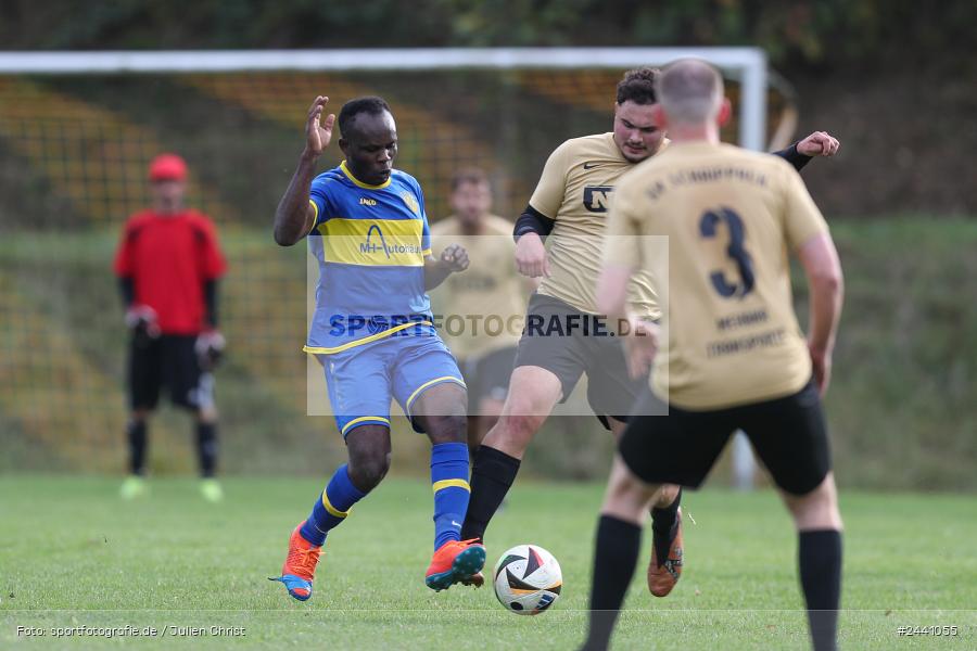
[[[586,651],[607,649],[640,546],[642,527],[611,515],[600,516],[591,586],[591,628],[583,647]]]

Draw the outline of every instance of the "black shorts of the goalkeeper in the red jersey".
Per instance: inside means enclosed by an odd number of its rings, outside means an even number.
[[[198,410],[213,404],[213,380],[203,373],[194,335],[136,335],[129,345],[129,406],[153,409],[166,386],[174,405]]]

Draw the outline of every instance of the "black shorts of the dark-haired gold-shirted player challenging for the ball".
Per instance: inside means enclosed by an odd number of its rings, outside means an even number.
[[[532,327],[534,323],[536,328]],[[561,403],[586,373],[587,403],[604,426],[610,429],[607,417],[626,423],[647,378],[631,378],[624,349],[609,330],[612,329],[602,317],[582,312],[553,296],[533,294],[516,366],[544,368],[559,378],[563,388]]]

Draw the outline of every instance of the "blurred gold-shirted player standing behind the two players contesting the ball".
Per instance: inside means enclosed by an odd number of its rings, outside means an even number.
[[[512,222],[491,213],[492,188],[483,170],[455,175],[451,206],[452,216],[431,227],[434,251],[464,238],[469,267],[451,276],[432,301],[442,318],[442,337],[468,386],[468,447],[474,454],[502,413],[519,343],[510,318],[518,316],[521,329],[535,282],[516,270]]]

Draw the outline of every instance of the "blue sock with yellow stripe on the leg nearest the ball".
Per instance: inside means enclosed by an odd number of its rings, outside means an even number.
[[[468,445],[440,443],[431,447],[431,484],[434,488],[434,549],[461,539],[468,511]]]

